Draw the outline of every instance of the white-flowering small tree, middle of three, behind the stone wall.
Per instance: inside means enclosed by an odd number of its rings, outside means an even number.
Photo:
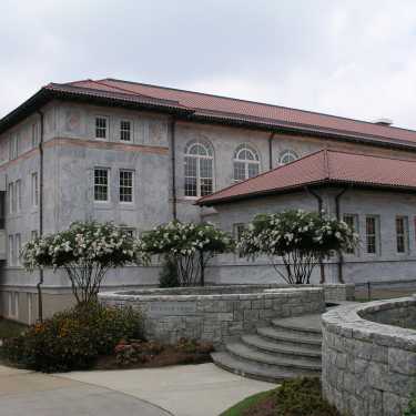
[[[169,256],[177,267],[179,284],[204,285],[207,262],[216,254],[233,247],[232,239],[211,223],[182,223],[172,221],[145,233],[143,251],[151,255]]]

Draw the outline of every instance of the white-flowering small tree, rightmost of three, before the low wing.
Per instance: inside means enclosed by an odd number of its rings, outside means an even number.
[[[257,215],[243,233],[239,250],[246,257],[268,256],[276,273],[288,284],[308,284],[319,258],[353,248],[357,242],[358,235],[343,221],[288,210]],[[285,273],[278,267],[278,256]]]

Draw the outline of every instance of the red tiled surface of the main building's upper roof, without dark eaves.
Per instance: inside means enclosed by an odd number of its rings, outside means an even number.
[[[194,115],[207,119],[221,118],[224,120],[260,122],[270,125],[303,126],[311,131],[321,131],[323,129],[329,132],[342,132],[351,135],[358,134],[369,138],[397,140],[399,142],[416,142],[416,132],[412,130],[253,101],[114,79],[103,79],[99,81],[88,80],[71,83],[71,85],[74,87],[87,87],[91,89],[94,89],[98,84],[100,84],[100,90],[108,88],[109,91],[113,91],[113,89],[116,88],[128,91],[129,93],[175,101],[184,108],[193,110]]]

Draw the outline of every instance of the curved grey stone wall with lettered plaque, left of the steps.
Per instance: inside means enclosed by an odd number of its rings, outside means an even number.
[[[102,292],[99,300],[109,306],[140,308],[150,339],[174,343],[187,337],[216,346],[273,318],[325,308],[324,291],[318,287],[252,287],[252,293],[231,287]]]

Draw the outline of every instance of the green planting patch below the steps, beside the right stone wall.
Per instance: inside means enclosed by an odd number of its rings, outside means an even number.
[[[322,397],[318,378],[285,381],[273,390],[250,396],[221,416],[341,416]]]

